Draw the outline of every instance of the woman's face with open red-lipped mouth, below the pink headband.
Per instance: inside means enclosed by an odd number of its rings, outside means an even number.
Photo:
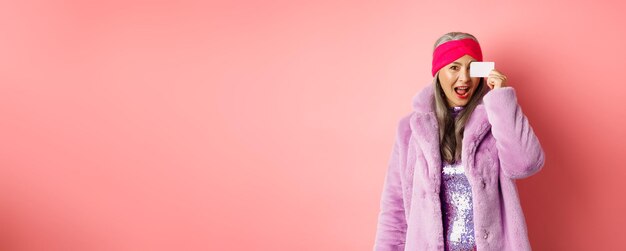
[[[470,78],[469,64],[472,61],[476,59],[465,55],[439,70],[439,83],[446,94],[448,106],[465,106],[474,95],[480,77]]]

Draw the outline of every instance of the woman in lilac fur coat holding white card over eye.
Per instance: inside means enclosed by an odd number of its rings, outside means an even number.
[[[435,43],[433,84],[398,123],[374,250],[531,249],[515,180],[541,170],[544,152],[506,76],[472,78],[472,61],[471,34]]]

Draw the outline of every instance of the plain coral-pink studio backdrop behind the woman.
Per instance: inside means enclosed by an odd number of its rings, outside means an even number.
[[[544,147],[518,181],[534,249],[623,247],[625,6],[87,2],[0,5],[1,250],[370,250],[448,31]]]

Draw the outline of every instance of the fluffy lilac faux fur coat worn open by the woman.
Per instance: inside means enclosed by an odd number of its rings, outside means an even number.
[[[444,250],[441,155],[434,85],[398,123],[385,176],[374,250]],[[489,90],[465,125],[461,160],[472,188],[479,251],[530,250],[515,179],[537,173],[544,152],[513,87]]]

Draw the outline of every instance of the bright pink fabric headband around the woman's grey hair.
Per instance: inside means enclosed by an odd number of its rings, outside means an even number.
[[[483,61],[480,45],[474,39],[464,38],[440,44],[433,52],[433,77],[442,67],[454,62],[465,54],[478,61]]]

